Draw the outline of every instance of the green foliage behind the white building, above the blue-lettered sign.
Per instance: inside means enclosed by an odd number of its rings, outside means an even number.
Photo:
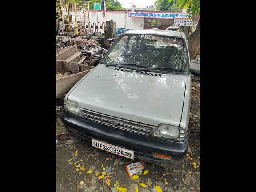
[[[154,3],[156,10],[180,12],[182,8],[179,7],[178,0],[156,0]]]

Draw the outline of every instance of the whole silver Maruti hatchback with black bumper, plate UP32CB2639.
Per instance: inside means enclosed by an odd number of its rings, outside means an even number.
[[[191,74],[182,32],[131,30],[64,98],[62,122],[101,150],[163,167],[188,150]]]

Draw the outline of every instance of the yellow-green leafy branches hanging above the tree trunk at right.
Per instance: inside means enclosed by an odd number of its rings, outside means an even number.
[[[186,8],[188,18],[192,18],[195,14],[200,15],[200,0],[178,0],[180,8]]]

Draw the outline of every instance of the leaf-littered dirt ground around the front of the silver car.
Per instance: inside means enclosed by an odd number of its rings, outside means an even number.
[[[152,192],[154,186],[160,186],[163,192],[196,192],[200,191],[200,83],[197,78],[192,78],[192,101],[189,122],[189,150],[187,156],[179,168],[162,168],[146,162],[147,174],[138,173],[139,178],[132,180],[129,177],[125,165],[138,162],[138,159],[130,160],[94,148],[90,143],[83,140],[70,139],[69,145],[63,145],[66,141],[60,141],[56,146],[56,192],[117,192],[114,184],[119,183],[120,187],[127,188],[127,192],[135,192],[134,187],[138,186],[139,192]],[[61,104],[56,104],[56,138],[64,133],[66,129],[60,121],[63,112]],[[78,151],[77,156],[75,152]],[[106,160],[106,158],[110,158]],[[77,162],[77,163],[76,163]],[[76,163],[74,165],[74,163]],[[79,166],[78,166],[79,164]],[[102,166],[103,164],[103,166]],[[80,167],[83,167],[81,170]],[[77,166],[77,167],[75,167]],[[102,166],[102,167],[101,167]],[[104,178],[98,179],[106,169],[110,178],[110,186]],[[76,170],[76,169],[79,169]],[[87,173],[92,170],[92,173]],[[96,172],[100,174],[94,175]],[[84,186],[78,185],[84,182]],[[165,183],[166,181],[166,183]],[[140,183],[146,185],[143,188]]]

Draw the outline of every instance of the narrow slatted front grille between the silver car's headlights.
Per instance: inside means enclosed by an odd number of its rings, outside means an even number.
[[[93,112],[90,110],[81,109],[84,117],[101,124],[110,125],[119,129],[123,129],[130,132],[135,132],[139,134],[149,135],[156,126],[142,124],[130,120],[120,119],[105,114],[100,114],[98,112]]]

